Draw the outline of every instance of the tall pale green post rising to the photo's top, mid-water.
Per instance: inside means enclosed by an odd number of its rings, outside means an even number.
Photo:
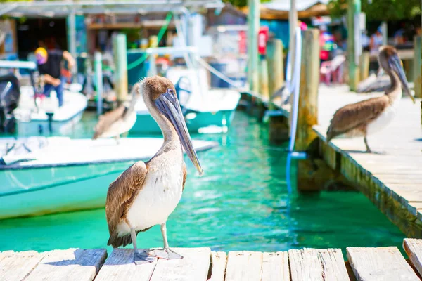
[[[248,0],[248,82],[249,89],[259,92],[258,32],[260,30],[260,0]]]

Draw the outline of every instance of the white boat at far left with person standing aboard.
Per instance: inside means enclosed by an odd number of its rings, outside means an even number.
[[[18,102],[18,107],[13,107],[12,112],[1,112],[1,115],[15,120],[19,136],[65,134],[82,118],[87,98],[79,93],[82,90],[80,84],[63,85],[63,106],[58,107],[54,90],[49,98],[44,98],[44,95],[34,97],[35,89],[38,89],[34,78],[37,65],[34,62],[0,60],[0,69],[25,69],[30,72],[30,86],[20,86],[17,77],[11,74],[1,77],[0,82],[0,101]]]

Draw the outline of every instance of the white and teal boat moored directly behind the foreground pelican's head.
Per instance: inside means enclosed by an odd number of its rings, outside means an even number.
[[[155,53],[193,53],[196,48],[149,48]],[[153,55],[151,55],[153,58]],[[193,59],[196,57],[193,56]],[[154,73],[152,73],[154,74]],[[241,94],[233,89],[211,89],[203,67],[170,67],[166,77],[173,82],[184,112],[186,126],[194,133],[225,133],[234,118]],[[160,128],[139,99],[135,106],[136,123],[132,133],[160,133]]]

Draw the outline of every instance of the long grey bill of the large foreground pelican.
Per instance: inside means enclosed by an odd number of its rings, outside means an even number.
[[[200,166],[198,155],[196,155],[196,151],[193,148],[191,136],[189,135],[186,122],[184,121],[183,114],[181,113],[179,100],[177,100],[173,93],[167,91],[155,100],[155,105],[157,105],[158,110],[160,110],[160,112],[165,115],[170,122],[172,122],[174,129],[176,129],[176,132],[179,135],[180,142],[183,145],[184,150],[191,159],[193,165],[196,169],[198,169],[199,174],[202,175],[203,169]]]

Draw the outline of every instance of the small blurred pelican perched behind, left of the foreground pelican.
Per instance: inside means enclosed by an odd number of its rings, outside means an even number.
[[[136,100],[141,96],[139,93],[139,83],[134,84],[131,96],[132,100],[130,101],[129,107],[122,104],[115,110],[106,112],[106,114],[98,118],[98,123],[94,127],[93,140],[114,137],[118,144],[120,135],[132,129],[132,126],[136,122]]]

